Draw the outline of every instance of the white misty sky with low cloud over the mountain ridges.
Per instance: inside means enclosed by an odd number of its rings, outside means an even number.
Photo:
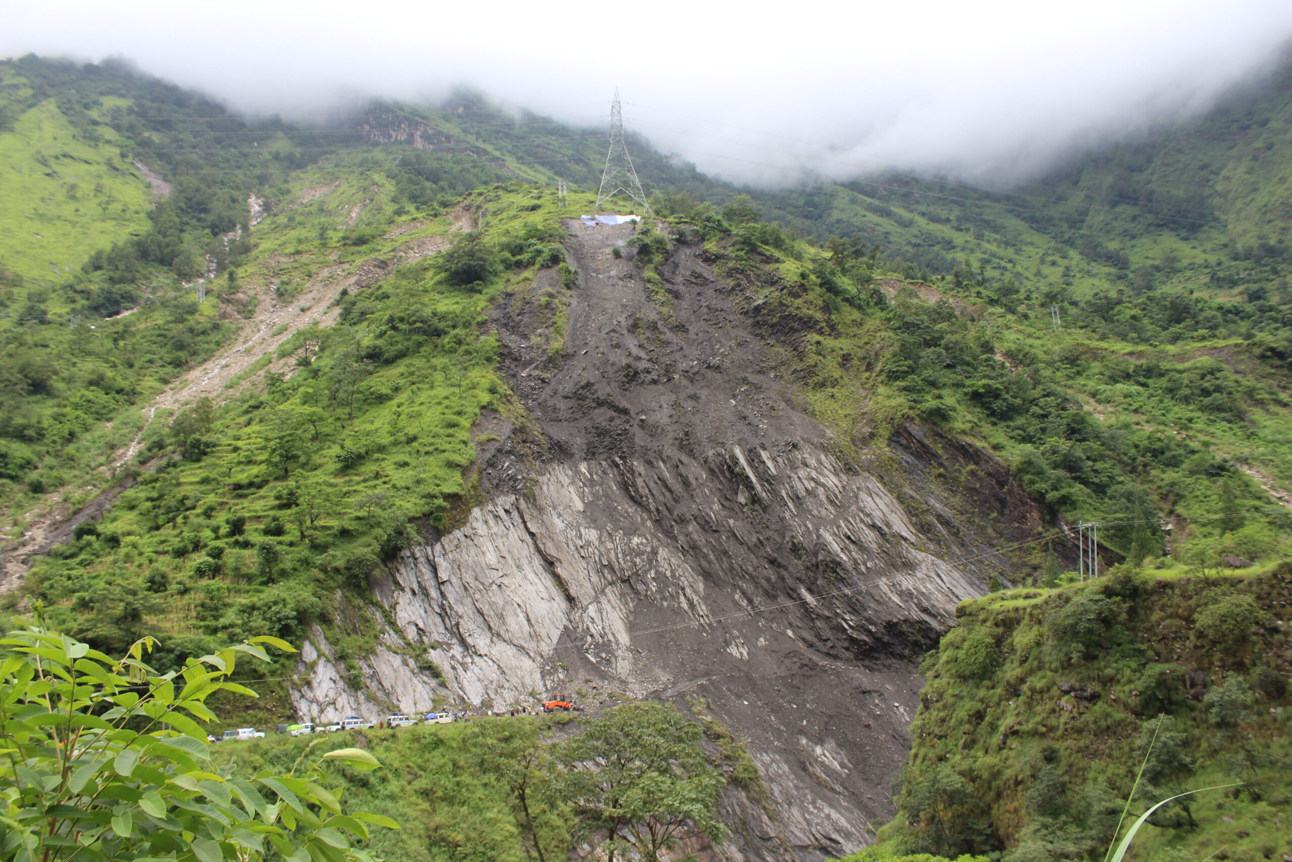
[[[483,89],[629,127],[700,169],[1004,182],[1204,110],[1292,36],[1288,0],[138,3],[0,0],[0,56],[124,56],[251,112]]]

